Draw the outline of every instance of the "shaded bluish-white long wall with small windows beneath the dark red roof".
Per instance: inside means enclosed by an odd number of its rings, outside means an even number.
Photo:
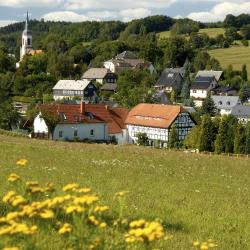
[[[91,135],[91,130],[94,130],[94,135]],[[105,123],[93,124],[58,124],[53,133],[54,140],[74,140],[74,131],[77,130],[77,137],[80,140],[107,140],[108,130]],[[59,133],[62,131],[62,137]]]

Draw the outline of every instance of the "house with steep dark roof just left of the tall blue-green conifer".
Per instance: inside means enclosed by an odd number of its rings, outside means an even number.
[[[167,68],[165,69],[160,79],[155,84],[155,89],[165,90],[171,93],[173,90],[177,93],[181,92],[184,79],[181,74],[182,68]]]

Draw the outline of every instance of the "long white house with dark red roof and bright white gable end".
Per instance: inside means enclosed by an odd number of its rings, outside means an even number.
[[[48,137],[49,127],[42,113],[57,120],[53,140],[91,140],[127,142],[125,119],[128,110],[110,108],[101,104],[49,104],[41,105],[41,112],[34,119],[34,137]]]

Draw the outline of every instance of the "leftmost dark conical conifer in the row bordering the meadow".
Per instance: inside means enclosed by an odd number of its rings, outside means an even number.
[[[213,122],[209,115],[204,115],[201,122],[201,135],[199,140],[199,151],[209,151],[213,150]]]

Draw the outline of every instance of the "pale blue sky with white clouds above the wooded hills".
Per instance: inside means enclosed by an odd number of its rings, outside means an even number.
[[[250,14],[246,0],[0,0],[0,26],[31,19],[82,22],[121,20],[150,15],[188,17],[201,22],[221,21],[227,14]]]

